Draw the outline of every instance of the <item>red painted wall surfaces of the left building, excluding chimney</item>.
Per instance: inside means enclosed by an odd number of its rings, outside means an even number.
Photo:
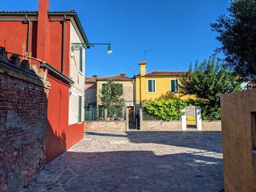
[[[46,61],[61,71],[62,23],[51,21],[47,26],[49,30],[46,33]],[[0,21],[0,28],[0,46],[6,47],[7,51],[22,54],[23,43],[25,42],[26,45],[28,24],[20,21]],[[34,58],[39,58],[38,54],[44,53],[44,50],[38,50],[44,47],[38,45],[40,39],[37,38],[37,31],[37,22],[31,22],[30,51]],[[64,39],[64,74],[69,77],[70,20],[66,22]],[[48,96],[48,128],[45,146],[47,163],[83,139],[83,123],[68,125],[69,85],[56,80],[50,74],[48,74],[48,80],[51,88]]]

